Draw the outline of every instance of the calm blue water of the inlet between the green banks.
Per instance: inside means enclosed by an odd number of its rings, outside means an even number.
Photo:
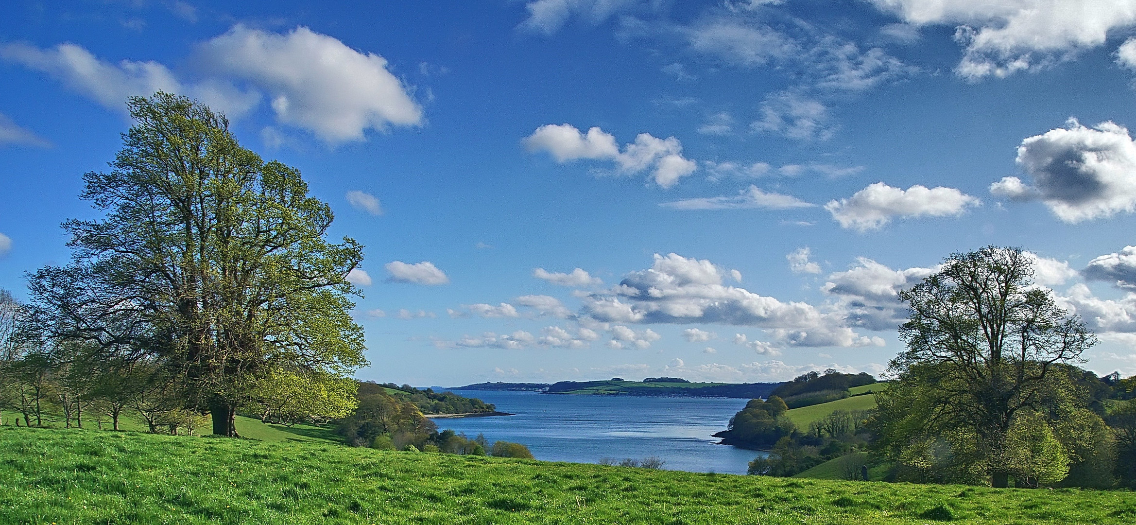
[[[516,416],[434,419],[474,438],[523,443],[536,459],[598,463],[600,458],[658,456],[663,468],[745,474],[763,452],[715,444],[710,434],[726,428],[746,399],[553,395],[536,392],[454,390]]]

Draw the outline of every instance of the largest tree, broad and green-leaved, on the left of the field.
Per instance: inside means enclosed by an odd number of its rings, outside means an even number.
[[[68,347],[87,349],[77,361],[156,370],[222,435],[236,435],[239,408],[289,388],[342,390],[366,364],[344,278],[362,248],[328,242],[331,208],[299,170],[242,148],[223,115],[161,92],[127,106],[135,125],[111,170],[84,176],[82,197],[105,217],[65,223],[74,261],[30,275],[44,341],[82,341]],[[333,398],[312,415],[353,403]]]

